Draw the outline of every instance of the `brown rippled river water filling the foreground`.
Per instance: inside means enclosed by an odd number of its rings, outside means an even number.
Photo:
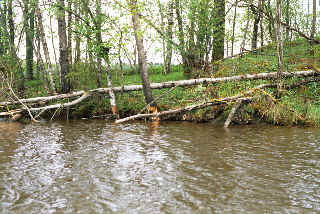
[[[0,213],[319,213],[320,129],[0,123]]]

